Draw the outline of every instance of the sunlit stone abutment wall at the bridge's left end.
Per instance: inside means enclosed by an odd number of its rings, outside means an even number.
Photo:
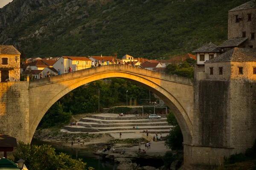
[[[29,82],[0,83],[0,134],[29,142]]]

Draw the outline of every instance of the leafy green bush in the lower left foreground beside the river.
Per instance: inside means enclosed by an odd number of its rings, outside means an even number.
[[[22,158],[28,169],[31,170],[85,170],[86,163],[81,159],[72,159],[65,153],[56,154],[55,149],[50,145],[41,146],[24,144],[19,142],[17,151],[13,154],[15,162]],[[88,170],[93,170],[89,167]]]

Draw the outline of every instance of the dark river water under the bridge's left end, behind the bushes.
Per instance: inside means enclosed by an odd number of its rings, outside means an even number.
[[[32,139],[31,144],[42,145],[50,143]],[[116,170],[116,167],[118,167],[118,164],[116,164],[113,160],[94,155],[93,150],[90,148],[78,149],[63,147],[56,144],[50,145],[55,148],[56,153],[67,153],[68,155],[72,156],[73,159],[83,159],[82,161],[87,163],[87,167],[93,167],[95,170]]]

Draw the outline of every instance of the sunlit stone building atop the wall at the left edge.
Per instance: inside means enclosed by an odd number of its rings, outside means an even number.
[[[13,45],[0,45],[0,82],[20,79],[20,52]]]

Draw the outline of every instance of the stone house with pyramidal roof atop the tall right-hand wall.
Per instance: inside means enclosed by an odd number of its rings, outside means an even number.
[[[208,79],[256,80],[256,48],[233,48],[205,62]]]

